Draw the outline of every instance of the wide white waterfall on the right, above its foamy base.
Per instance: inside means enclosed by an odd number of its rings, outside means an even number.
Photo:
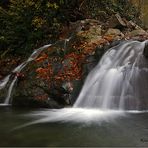
[[[128,41],[109,49],[88,75],[74,107],[142,110],[148,107],[145,42]]]

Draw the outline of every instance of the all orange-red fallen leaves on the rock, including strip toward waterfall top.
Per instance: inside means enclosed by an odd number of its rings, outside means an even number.
[[[62,58],[58,56],[48,56],[45,53],[41,54],[35,60],[37,64],[42,65],[36,69],[36,78],[46,82],[48,81],[49,86],[51,83],[79,80],[83,76],[82,65],[86,63],[86,57],[94,54],[98,45],[106,44],[112,40],[113,38],[111,36],[104,36],[102,39],[92,42],[85,40],[76,41],[71,45],[71,48],[73,48],[72,52],[65,54]],[[46,64],[43,64],[45,61]],[[56,73],[53,68],[54,62],[62,65]]]

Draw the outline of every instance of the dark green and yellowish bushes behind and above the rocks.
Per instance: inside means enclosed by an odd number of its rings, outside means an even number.
[[[34,48],[55,42],[70,22],[85,18],[103,22],[116,13],[140,23],[140,12],[130,0],[1,0],[1,58],[28,56]]]

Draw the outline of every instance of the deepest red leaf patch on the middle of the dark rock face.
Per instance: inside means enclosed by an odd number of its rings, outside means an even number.
[[[47,56],[42,55],[36,59],[37,63],[43,62],[47,59]],[[39,67],[36,69],[37,78],[41,78],[49,82],[49,84],[53,81],[55,82],[63,82],[63,81],[72,81],[78,80],[82,76],[82,62],[84,60],[83,54],[77,54],[76,52],[72,52],[64,56],[64,58],[57,59],[61,64],[62,68],[54,73],[52,66],[52,58],[48,59],[48,63],[45,67]]]

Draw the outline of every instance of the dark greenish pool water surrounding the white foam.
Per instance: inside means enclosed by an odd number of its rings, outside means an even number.
[[[148,113],[127,113],[110,122],[46,122],[13,130],[34,117],[29,109],[0,107],[0,146],[148,146]]]

